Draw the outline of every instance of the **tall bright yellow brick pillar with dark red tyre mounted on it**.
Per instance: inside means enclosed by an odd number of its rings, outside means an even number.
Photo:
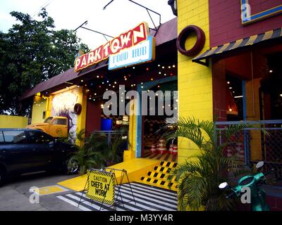
[[[204,51],[209,49],[209,1],[178,0],[178,34],[188,25],[197,25],[204,30],[206,43]],[[186,41],[186,48],[193,45],[193,39]],[[179,116],[213,120],[212,104],[212,65],[209,67],[192,63],[193,57],[178,52],[178,94]],[[190,141],[178,139],[178,163],[198,152]]]

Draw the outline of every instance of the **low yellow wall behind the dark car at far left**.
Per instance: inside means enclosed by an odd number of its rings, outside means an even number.
[[[0,115],[1,128],[25,128],[28,123],[27,117],[18,117],[12,115]]]

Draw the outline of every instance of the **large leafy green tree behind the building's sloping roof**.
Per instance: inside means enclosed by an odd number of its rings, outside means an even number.
[[[11,12],[20,21],[0,32],[0,113],[27,115],[29,103],[18,98],[27,89],[73,67],[79,50],[89,51],[72,30],[54,30],[45,8],[37,21],[28,14]]]

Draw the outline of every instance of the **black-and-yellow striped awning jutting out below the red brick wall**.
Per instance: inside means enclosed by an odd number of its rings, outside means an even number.
[[[240,39],[237,41],[232,41],[227,44],[223,44],[220,46],[216,46],[208,51],[202,53],[202,55],[197,56],[196,58],[192,59],[192,62],[204,64],[202,60],[207,59],[209,57],[217,56],[221,53],[226,53],[228,51],[232,51],[234,49],[240,49],[245,46],[251,46],[253,44],[260,43],[262,41],[276,39],[282,36],[282,28],[278,28],[276,30],[271,30],[269,32],[265,32],[262,34],[257,34],[251,37],[246,37],[244,39]]]

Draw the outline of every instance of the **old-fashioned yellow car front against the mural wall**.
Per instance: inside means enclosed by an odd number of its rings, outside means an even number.
[[[48,117],[43,123],[30,124],[26,128],[39,129],[54,137],[68,136],[68,118],[67,117]]]

